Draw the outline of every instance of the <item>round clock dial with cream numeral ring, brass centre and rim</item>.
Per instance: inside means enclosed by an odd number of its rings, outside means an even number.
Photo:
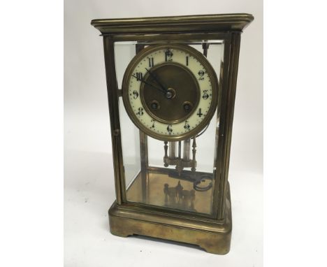
[[[123,100],[129,117],[159,140],[195,136],[217,108],[217,77],[203,55],[188,45],[153,45],[126,69]]]

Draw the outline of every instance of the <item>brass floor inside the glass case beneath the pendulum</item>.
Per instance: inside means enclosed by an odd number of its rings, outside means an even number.
[[[212,173],[208,173],[208,175],[212,175]],[[143,183],[142,179],[147,179],[147,181]],[[179,197],[178,192],[177,196],[174,196],[174,192],[172,192],[173,194],[165,194],[165,184],[168,185],[168,189],[175,189],[178,182],[183,187],[184,195],[186,196]],[[127,201],[130,202],[212,214],[212,189],[215,188],[215,181],[212,181],[212,183],[213,185],[208,191],[194,191],[194,196],[191,196],[191,192],[194,190],[193,182],[182,180],[181,178],[172,178],[165,173],[149,172],[148,175],[139,173],[129,189],[127,189],[126,196]],[[145,188],[144,184],[147,185],[147,189],[143,189]],[[144,192],[145,190],[147,192]]]

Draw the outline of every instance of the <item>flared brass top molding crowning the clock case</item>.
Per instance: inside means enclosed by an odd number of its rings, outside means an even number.
[[[250,14],[183,15],[170,17],[133,17],[92,20],[92,26],[103,35],[215,33],[242,31],[254,20]]]

